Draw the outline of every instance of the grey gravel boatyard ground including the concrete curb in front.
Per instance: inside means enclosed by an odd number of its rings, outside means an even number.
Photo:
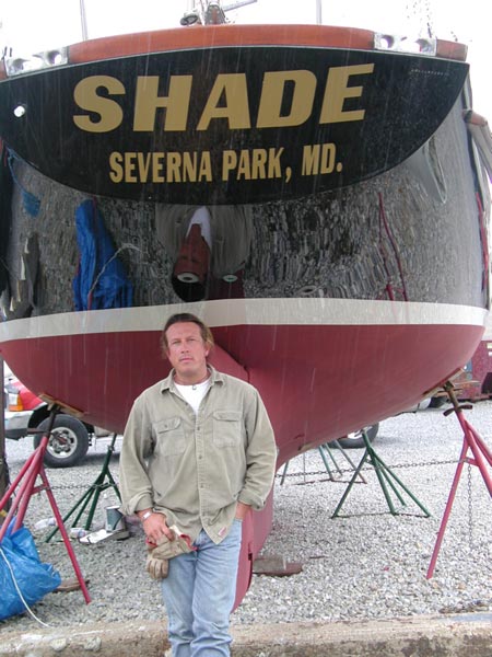
[[[492,402],[466,412],[492,447]],[[118,475],[118,449],[112,472]],[[62,514],[101,471],[107,441],[97,441],[80,466],[48,470]],[[426,410],[384,420],[374,443],[384,462],[431,512],[425,518],[406,494],[399,515],[388,510],[377,476],[353,486],[338,518],[351,466],[332,452],[342,471],[326,471],[317,450],[289,465],[276,481],[272,531],[262,555],[301,564],[289,577],[254,575],[232,616],[233,655],[330,655],[413,657],[492,656],[492,500],[478,469],[466,466],[441,548],[435,574],[426,578],[443,511],[462,443],[454,415]],[[11,476],[32,447],[8,441]],[[350,450],[358,463],[363,450]],[[331,461],[330,461],[331,462]],[[333,470],[333,468],[331,468]],[[279,472],[279,475],[282,471]],[[94,525],[104,522],[105,492]],[[45,495],[33,498],[26,525],[49,515]],[[49,593],[27,614],[0,623],[0,655],[164,655],[165,612],[159,586],[144,573],[139,528],[122,541],[74,542],[92,602],[80,590]],[[34,532],[43,561],[63,579],[73,578],[65,545]]]

